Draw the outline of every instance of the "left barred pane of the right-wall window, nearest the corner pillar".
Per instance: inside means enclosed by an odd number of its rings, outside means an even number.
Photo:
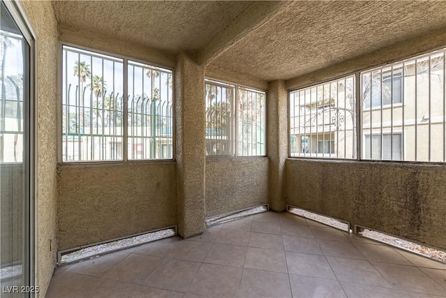
[[[290,156],[356,158],[355,76],[290,92]]]

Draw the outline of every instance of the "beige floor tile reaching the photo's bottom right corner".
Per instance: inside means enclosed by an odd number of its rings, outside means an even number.
[[[445,289],[417,267],[394,264],[374,264],[382,276],[398,290],[420,292],[429,295],[446,295]]]

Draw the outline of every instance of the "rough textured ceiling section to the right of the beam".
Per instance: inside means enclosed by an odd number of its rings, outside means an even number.
[[[441,27],[445,1],[298,1],[213,64],[286,80]]]

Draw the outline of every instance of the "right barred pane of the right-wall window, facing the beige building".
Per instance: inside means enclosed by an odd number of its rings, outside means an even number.
[[[362,158],[446,161],[445,49],[360,73]]]

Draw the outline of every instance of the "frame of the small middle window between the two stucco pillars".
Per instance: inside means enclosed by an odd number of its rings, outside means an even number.
[[[214,77],[205,77],[205,79],[204,79],[205,86],[206,86],[206,82],[210,82],[210,84],[216,84],[217,86],[221,85],[223,87],[231,86],[234,89],[233,109],[232,109],[233,110],[233,119],[231,120],[232,125],[233,125],[233,135],[234,135],[234,140],[232,141],[233,142],[233,154],[231,154],[231,155],[208,155],[208,154],[206,154],[206,158],[259,158],[259,157],[268,156],[268,91],[259,89],[259,88],[255,88],[255,87],[249,87],[244,84],[236,84],[233,82],[228,82],[226,80],[215,79]],[[262,154],[262,155],[239,155],[238,154],[238,140],[239,140],[239,138],[238,138],[239,110],[237,108],[237,106],[238,106],[238,88],[247,89],[248,91],[262,92],[265,96],[265,104],[263,106],[264,118],[265,118],[265,138],[263,139],[263,144],[264,144],[265,149],[264,149],[264,154]],[[205,96],[204,100],[206,100],[206,88],[205,88],[204,96]],[[206,105],[206,103],[205,103],[205,105]],[[205,125],[205,130],[206,130],[206,125]]]

